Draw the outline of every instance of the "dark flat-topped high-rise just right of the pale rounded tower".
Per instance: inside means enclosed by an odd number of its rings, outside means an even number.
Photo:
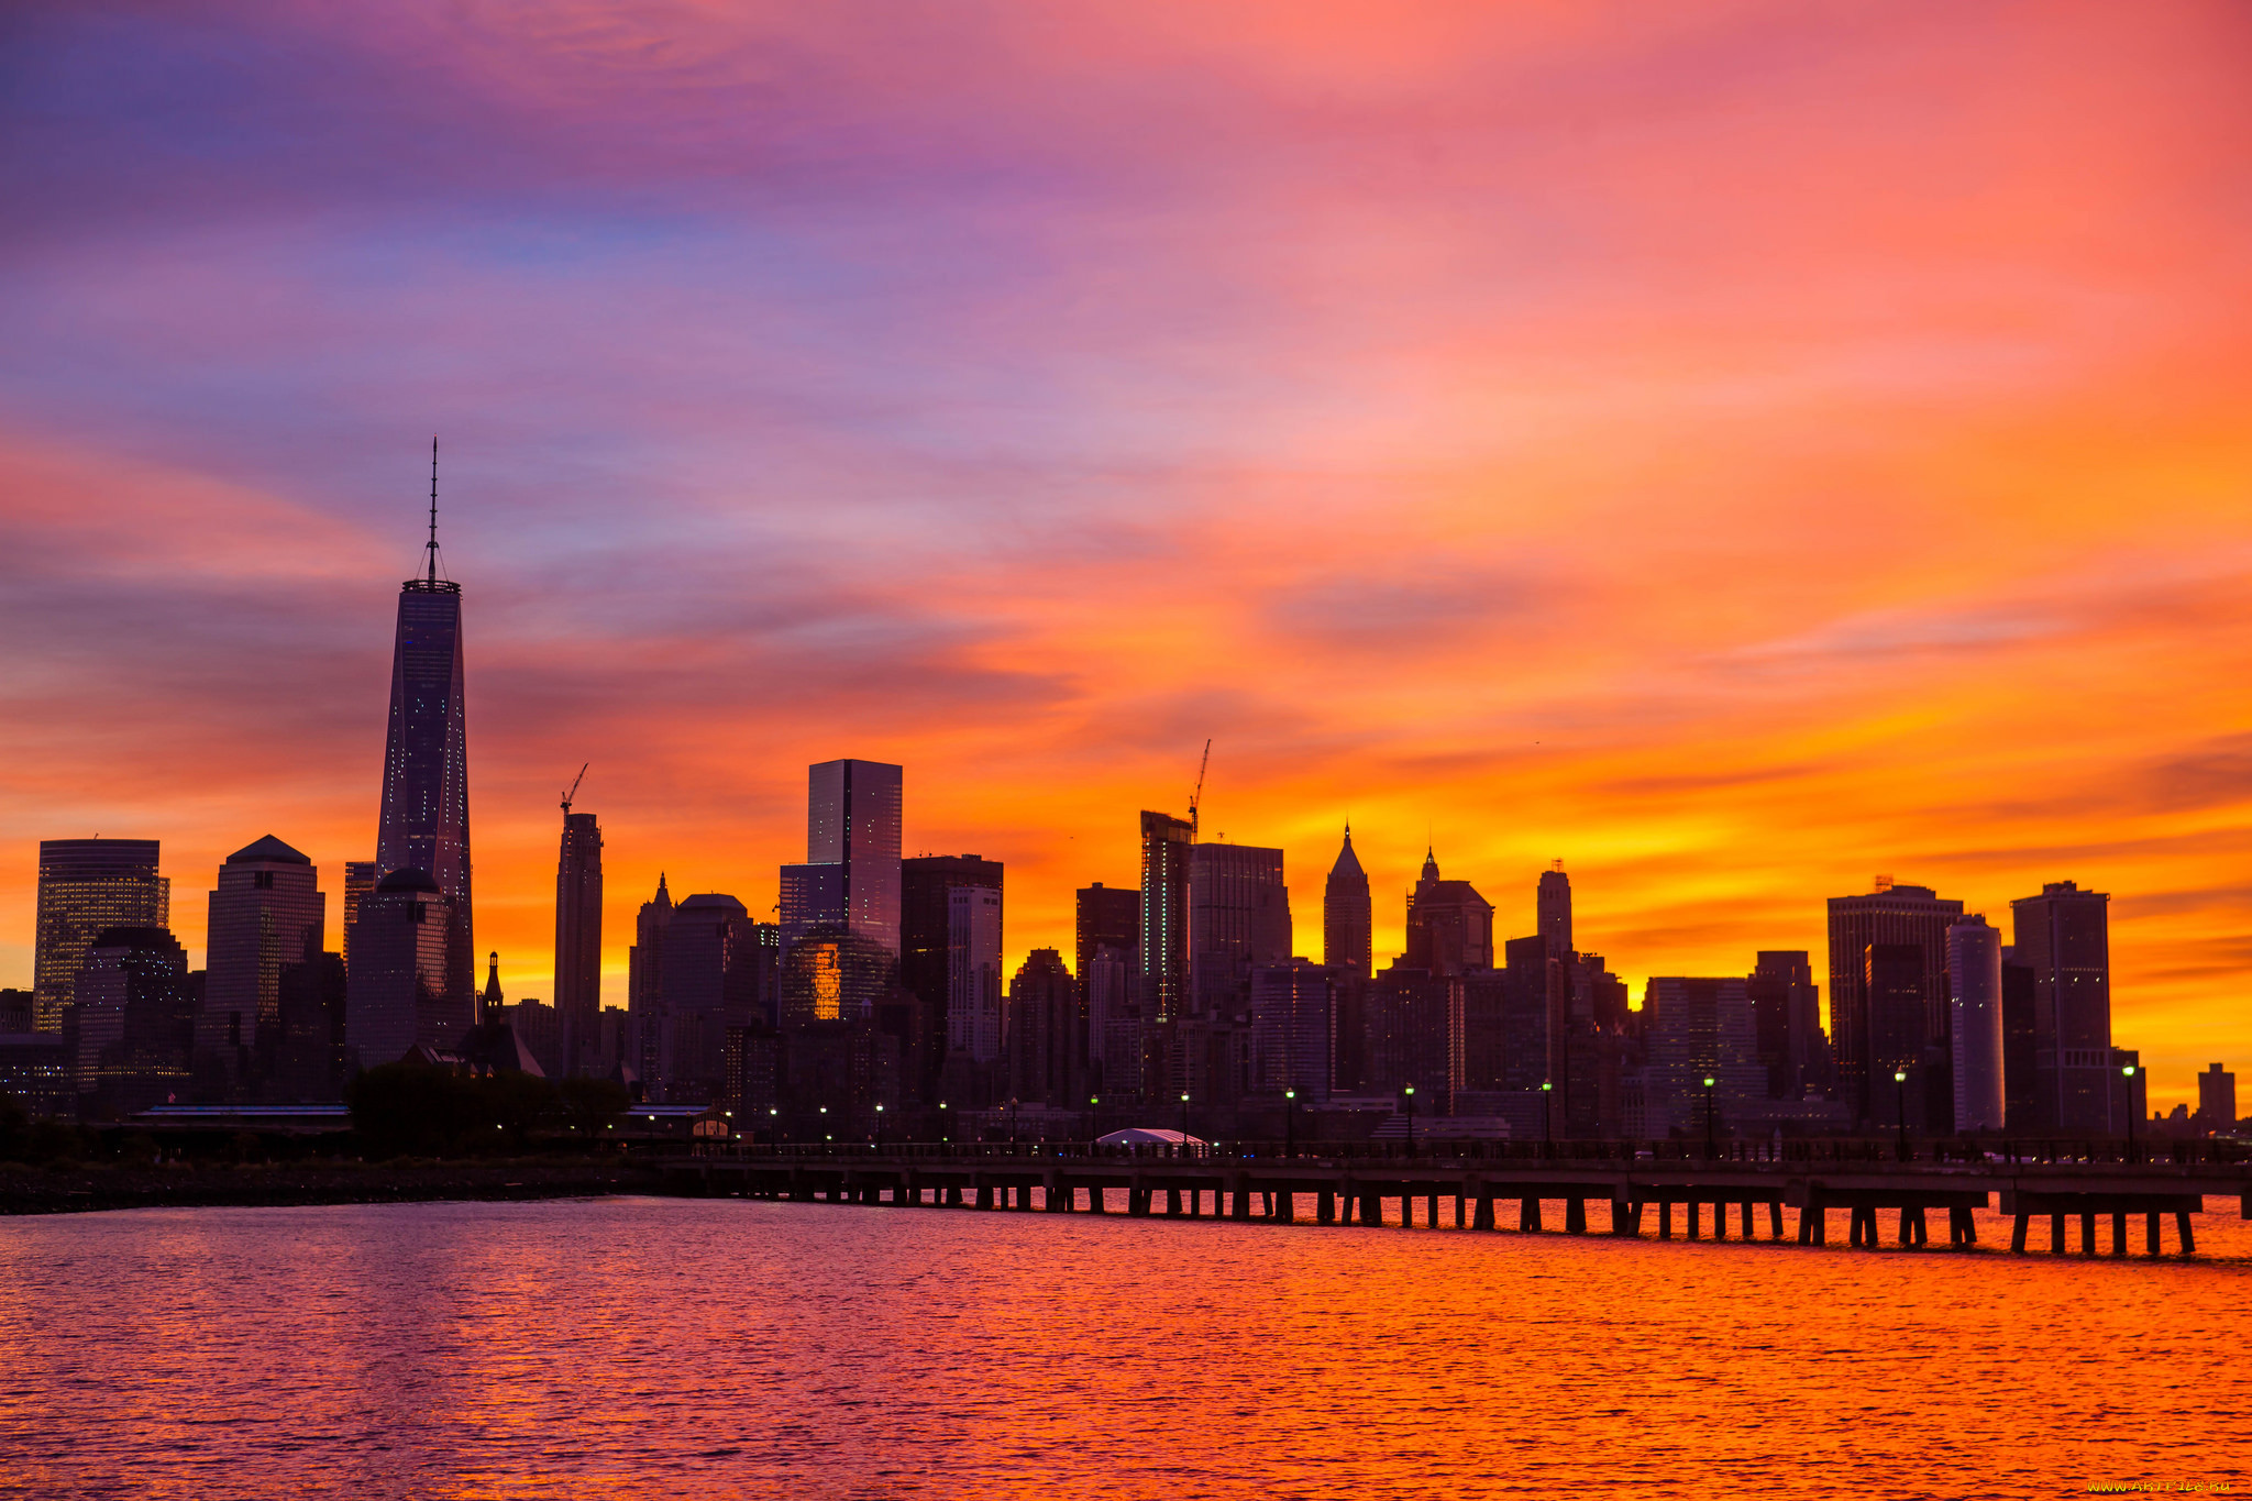
[[[2034,1107],[2040,1130],[2124,1134],[2112,1107],[2110,896],[2056,880],[2009,905],[2034,970]]]

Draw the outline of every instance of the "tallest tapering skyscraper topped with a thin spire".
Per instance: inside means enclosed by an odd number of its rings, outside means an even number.
[[[477,988],[477,959],[468,898],[462,585],[437,576],[437,439],[430,441],[430,540],[423,554],[423,578],[399,585],[376,880],[381,884],[399,871],[423,871],[446,893],[453,909],[446,927],[446,992],[466,1008]]]

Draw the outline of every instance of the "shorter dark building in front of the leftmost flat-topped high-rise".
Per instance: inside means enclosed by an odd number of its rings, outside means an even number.
[[[196,986],[187,950],[162,927],[108,927],[77,983],[79,1091],[101,1114],[149,1109],[187,1091]]]

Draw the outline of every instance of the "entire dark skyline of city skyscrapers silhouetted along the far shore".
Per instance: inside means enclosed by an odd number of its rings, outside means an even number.
[[[577,788],[574,788],[577,792]],[[477,992],[462,587],[401,585],[376,857],[345,866],[342,943],[311,860],[272,835],[225,860],[207,965],[169,932],[149,839],[41,844],[34,990],[0,992],[0,1089],[36,1109],[333,1100],[354,1069],[604,1076],[784,1134],[1083,1130],[1180,1105],[1200,1130],[1367,1112],[1426,1130],[1664,1136],[1712,1130],[2117,1134],[2144,1114],[2110,1037],[2108,898],[2011,902],[2011,941],[1959,900],[1885,878],[1829,902],[1831,1028],[1806,952],[1748,974],[1628,986],[1572,932],[1561,862],[1531,932],[1426,853],[1405,952],[1374,959],[1374,896],[1344,830],[1302,956],[1279,848],[1140,815],[1140,882],[1079,891],[1076,943],[1004,974],[1004,871],[903,855],[905,776],[824,761],[806,857],[772,918],[727,893],[642,905],[626,1004],[601,1004],[601,830],[563,799],[554,1004]],[[2234,1078],[2200,1078],[2234,1127]],[[1155,1121],[1151,1121],[1155,1123]]]

